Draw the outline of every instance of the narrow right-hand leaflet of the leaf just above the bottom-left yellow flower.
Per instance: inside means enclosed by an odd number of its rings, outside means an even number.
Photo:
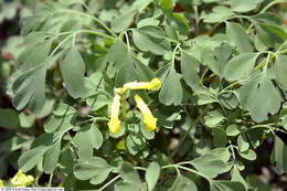
[[[52,173],[56,166],[60,157],[61,139],[59,139],[44,155],[43,170],[46,173]]]

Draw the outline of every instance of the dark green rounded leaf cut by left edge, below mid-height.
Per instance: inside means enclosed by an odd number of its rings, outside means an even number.
[[[15,129],[19,127],[19,117],[18,113],[13,109],[0,108],[0,127],[4,127],[7,129]]]

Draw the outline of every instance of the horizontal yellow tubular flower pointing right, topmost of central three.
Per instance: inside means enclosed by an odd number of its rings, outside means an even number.
[[[153,78],[150,82],[129,82],[124,85],[124,88],[119,89],[119,92],[126,92],[128,89],[150,89],[158,91],[161,87],[161,83],[159,78]]]

